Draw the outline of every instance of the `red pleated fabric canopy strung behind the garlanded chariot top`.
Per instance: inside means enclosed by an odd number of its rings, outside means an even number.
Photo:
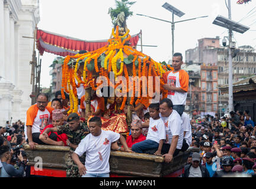
[[[137,45],[139,34],[132,35],[130,43],[132,47]],[[73,56],[81,50],[94,51],[107,45],[107,40],[83,41],[76,38],[54,34],[49,31],[37,30],[37,49],[43,56],[44,51],[59,56]]]

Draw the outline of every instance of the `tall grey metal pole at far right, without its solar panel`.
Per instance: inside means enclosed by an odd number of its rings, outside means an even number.
[[[229,19],[231,19],[231,0],[228,1]],[[229,28],[229,112],[233,110],[233,67],[231,55],[232,26]]]

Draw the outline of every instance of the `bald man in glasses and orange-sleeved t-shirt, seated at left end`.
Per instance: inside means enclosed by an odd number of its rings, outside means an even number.
[[[35,149],[35,145],[44,144],[40,141],[40,131],[49,125],[49,119],[52,115],[52,107],[47,106],[48,95],[40,93],[37,96],[37,103],[30,106],[27,110],[27,119],[25,123],[25,138],[27,139],[30,149]]]

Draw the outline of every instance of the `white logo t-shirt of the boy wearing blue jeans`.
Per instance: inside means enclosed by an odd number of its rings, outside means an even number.
[[[157,120],[149,119],[149,129],[146,139],[155,141],[158,144],[160,140],[166,139],[164,121],[161,118]]]

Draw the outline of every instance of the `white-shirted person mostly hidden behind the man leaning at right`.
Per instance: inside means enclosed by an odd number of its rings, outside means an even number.
[[[183,144],[183,149],[181,149],[181,151],[186,151],[192,143],[192,132],[189,115],[183,112],[181,115],[181,120],[183,121],[182,124],[184,128],[184,140],[187,143],[187,146]]]

